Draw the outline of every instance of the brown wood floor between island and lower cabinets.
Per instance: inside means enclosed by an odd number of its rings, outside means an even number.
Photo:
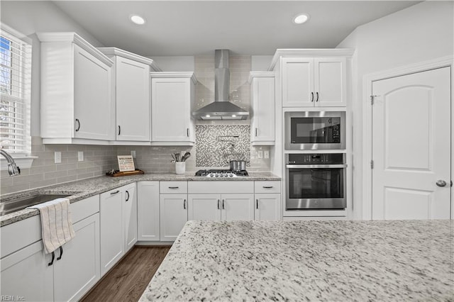
[[[138,301],[169,250],[133,247],[81,301]]]

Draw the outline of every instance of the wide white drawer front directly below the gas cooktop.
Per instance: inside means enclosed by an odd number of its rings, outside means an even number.
[[[254,181],[189,181],[189,194],[254,193]]]

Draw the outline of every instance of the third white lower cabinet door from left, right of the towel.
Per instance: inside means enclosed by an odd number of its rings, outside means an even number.
[[[125,253],[123,191],[115,189],[100,195],[101,276]]]

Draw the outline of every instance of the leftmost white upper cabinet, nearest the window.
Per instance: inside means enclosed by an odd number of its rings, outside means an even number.
[[[106,55],[76,33],[38,33],[43,143],[115,140],[115,103]]]

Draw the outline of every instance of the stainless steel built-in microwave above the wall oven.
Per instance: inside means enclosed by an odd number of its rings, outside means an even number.
[[[345,111],[284,113],[286,150],[344,150]]]

